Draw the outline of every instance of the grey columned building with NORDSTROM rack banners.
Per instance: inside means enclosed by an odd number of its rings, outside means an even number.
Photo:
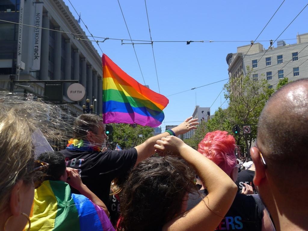
[[[42,28],[41,28],[42,27]],[[78,80],[85,98],[97,99],[94,111],[102,112],[102,60],[84,36],[63,0],[0,1],[0,90],[9,90],[10,75],[17,80]],[[70,102],[63,85],[63,101]],[[44,95],[43,83],[16,84],[14,92]],[[72,115],[82,105],[64,104]]]

